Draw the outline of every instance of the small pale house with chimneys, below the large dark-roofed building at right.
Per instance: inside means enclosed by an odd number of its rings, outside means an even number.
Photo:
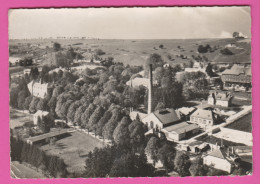
[[[211,93],[208,97],[208,104],[229,107],[231,105],[232,96],[229,93]]]

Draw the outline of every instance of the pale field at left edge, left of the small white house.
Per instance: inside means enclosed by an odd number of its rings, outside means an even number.
[[[26,122],[33,122],[33,116],[31,114],[25,114],[18,112],[14,109],[10,109],[10,128],[22,126]]]

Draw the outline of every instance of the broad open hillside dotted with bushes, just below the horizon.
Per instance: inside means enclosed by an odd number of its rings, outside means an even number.
[[[240,42],[237,39],[174,39],[174,40],[120,40],[120,39],[32,39],[32,40],[10,40],[10,46],[24,45],[27,43],[40,45],[37,55],[46,51],[46,47],[52,47],[53,42],[58,42],[62,47],[72,46],[76,50],[86,51],[91,49],[102,49],[105,54],[102,58],[113,57],[116,62],[129,65],[143,65],[152,53],[158,53],[165,62],[178,64],[188,62],[192,55],[206,56],[213,63],[250,63],[251,46],[250,42]],[[220,50],[227,44],[235,43],[236,47],[231,48],[233,55],[222,55]],[[199,45],[209,44],[212,48],[218,47],[214,52],[198,54]],[[159,48],[163,45],[163,48]],[[25,48],[28,50],[28,48]],[[187,59],[182,59],[183,55]],[[169,59],[169,56],[171,59]]]

